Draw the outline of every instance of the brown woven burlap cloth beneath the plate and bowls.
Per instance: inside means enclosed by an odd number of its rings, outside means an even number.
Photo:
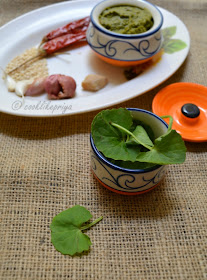
[[[55,2],[0,0],[0,24]],[[206,0],[153,2],[187,25],[190,53],[164,84],[120,106],[151,110],[153,97],[168,84],[207,85]],[[0,113],[0,279],[205,279],[207,144],[186,143],[186,162],[170,166],[154,191],[117,195],[91,175],[89,132],[96,113],[55,119]],[[87,232],[90,252],[71,258],[54,249],[49,225],[75,204],[104,219]]]

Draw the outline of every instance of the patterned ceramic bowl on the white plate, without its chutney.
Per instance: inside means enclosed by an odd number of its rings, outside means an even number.
[[[154,20],[152,28],[140,34],[118,34],[107,30],[99,23],[99,15],[103,10],[123,4],[148,9]],[[108,63],[117,66],[136,65],[148,61],[161,49],[163,16],[155,5],[147,1],[105,0],[93,8],[90,17],[91,23],[87,30],[88,44]]]

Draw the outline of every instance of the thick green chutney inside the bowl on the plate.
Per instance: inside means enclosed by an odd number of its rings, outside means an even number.
[[[100,24],[120,34],[139,34],[153,26],[153,17],[147,9],[120,5],[106,8],[99,16]]]

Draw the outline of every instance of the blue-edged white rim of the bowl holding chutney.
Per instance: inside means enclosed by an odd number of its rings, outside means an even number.
[[[101,2],[97,3],[93,7],[93,9],[91,11],[91,14],[90,14],[90,19],[91,19],[91,22],[92,22],[93,26],[96,29],[98,29],[100,32],[102,32],[102,33],[104,33],[104,34],[106,34],[108,36],[115,37],[115,38],[121,38],[121,39],[127,39],[127,40],[146,38],[146,37],[149,37],[149,36],[155,34],[157,31],[159,31],[161,29],[162,25],[163,25],[163,15],[162,15],[161,11],[159,10],[159,8],[156,5],[154,5],[154,4],[152,4],[152,3],[148,2],[148,1],[145,1],[145,0],[142,1],[141,0],[141,2],[146,4],[146,6],[154,7],[156,9],[156,11],[158,12],[158,14],[160,15],[160,23],[158,24],[158,26],[155,29],[153,29],[152,31],[148,30],[146,32],[143,32],[143,33],[140,33],[140,34],[135,34],[135,35],[132,35],[132,34],[119,34],[119,33],[115,33],[115,32],[109,31],[106,28],[102,27],[101,24],[97,24],[95,22],[94,16],[93,16],[93,13],[94,13],[95,9],[100,4],[102,4],[105,1],[107,1],[107,0],[102,0]],[[137,2],[139,2],[139,0],[137,0]],[[113,6],[113,1],[112,1],[111,5]]]

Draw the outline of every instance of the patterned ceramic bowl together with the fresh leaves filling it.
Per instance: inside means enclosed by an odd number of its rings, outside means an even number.
[[[155,188],[164,177],[166,165],[185,160],[185,144],[171,126],[142,109],[98,113],[90,135],[95,178],[120,194],[142,194]]]

